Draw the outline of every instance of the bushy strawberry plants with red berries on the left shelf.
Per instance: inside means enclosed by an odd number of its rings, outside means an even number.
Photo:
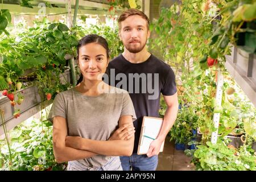
[[[17,91],[22,89],[22,82],[28,81],[24,80],[28,77],[24,75],[28,69],[33,69],[29,77],[35,77],[34,84],[38,85],[39,92],[51,90],[54,98],[55,88],[59,92],[67,90],[69,85],[61,84],[59,76],[67,64],[65,55],[75,55],[76,45],[76,36],[65,24],[47,23],[46,19],[34,28],[3,37],[0,42],[0,89],[8,89],[7,97],[13,101],[11,105],[15,107],[24,99],[19,92],[18,100],[14,101]],[[40,93],[42,100],[46,98],[44,93]]]

